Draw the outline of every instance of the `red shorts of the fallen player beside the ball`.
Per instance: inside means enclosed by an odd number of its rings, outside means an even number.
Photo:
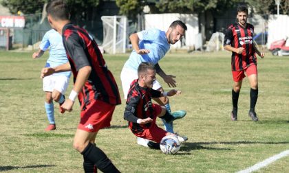
[[[155,141],[160,143],[162,138],[166,136],[167,131],[159,128],[156,125],[156,117],[160,115],[162,112],[162,107],[158,104],[153,104],[153,122],[151,122],[151,126],[149,128],[144,129],[142,132],[134,133],[137,137],[141,137],[144,139],[149,139],[151,141]]]

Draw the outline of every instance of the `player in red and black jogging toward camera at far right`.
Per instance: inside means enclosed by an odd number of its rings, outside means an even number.
[[[264,53],[260,52],[254,44],[254,26],[247,23],[248,9],[245,6],[237,8],[237,23],[228,27],[225,33],[224,49],[232,51],[232,74],[233,90],[232,102],[233,111],[231,120],[237,121],[239,92],[242,87],[245,72],[250,83],[250,109],[248,115],[253,121],[258,121],[255,113],[255,105],[258,97],[258,78],[257,78],[257,53],[264,58]]]

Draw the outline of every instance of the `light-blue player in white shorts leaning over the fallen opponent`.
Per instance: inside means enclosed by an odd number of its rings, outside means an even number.
[[[182,36],[184,36],[186,29],[186,25],[182,21],[178,20],[171,23],[167,32],[152,29],[143,30],[129,36],[133,51],[131,52],[127,62],[125,62],[120,74],[125,99],[127,99],[131,82],[138,79],[137,69],[141,62],[151,62],[153,65],[155,65],[156,73],[162,77],[164,82],[166,82],[169,87],[176,87],[176,82],[173,79],[175,76],[164,73],[158,62],[164,57],[167,51],[169,51],[170,45],[180,41]],[[157,80],[153,82],[153,89],[162,92],[164,91]],[[153,98],[153,100],[158,102],[158,104],[161,106],[165,106],[169,113],[171,113],[168,97]],[[186,115],[185,111],[178,111],[178,113],[180,113],[181,117]],[[163,123],[165,130],[173,133],[173,124],[168,124],[165,121],[163,121]],[[148,141],[138,138],[138,144],[147,146],[147,143]]]

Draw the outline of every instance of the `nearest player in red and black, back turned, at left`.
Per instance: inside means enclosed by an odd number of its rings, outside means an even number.
[[[61,107],[72,111],[76,97],[81,102],[81,121],[73,146],[83,154],[83,168],[85,172],[96,172],[96,168],[102,172],[119,172],[107,155],[95,145],[98,130],[110,126],[114,108],[121,102],[114,76],[107,69],[94,39],[86,30],[70,23],[66,3],[62,0],[50,1],[46,12],[52,28],[63,36],[69,63],[44,68],[41,77],[72,70],[74,87]]]

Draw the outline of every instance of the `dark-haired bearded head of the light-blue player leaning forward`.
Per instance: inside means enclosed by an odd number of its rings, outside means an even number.
[[[173,21],[173,23],[169,25],[169,30],[167,32],[168,42],[172,45],[177,43],[178,41],[180,41],[182,36],[184,36],[184,32],[186,30],[187,27],[182,21]]]

